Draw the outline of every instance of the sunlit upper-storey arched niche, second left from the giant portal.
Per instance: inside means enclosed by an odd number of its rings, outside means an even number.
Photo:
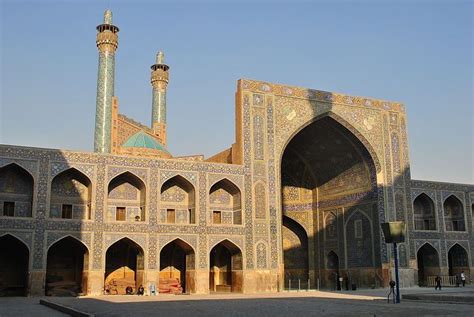
[[[162,212],[166,223],[196,223],[196,194],[194,186],[181,175],[176,175],[161,186]]]

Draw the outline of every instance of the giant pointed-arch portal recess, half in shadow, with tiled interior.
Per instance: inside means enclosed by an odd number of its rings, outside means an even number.
[[[342,123],[341,123],[342,122]],[[281,158],[282,238],[284,246],[284,285],[289,279],[333,281],[325,267],[325,256],[334,251],[342,256],[339,270],[350,275],[358,287],[383,285],[376,160],[363,137],[355,135],[344,120],[328,114],[298,131],[289,140]],[[363,143],[364,141],[364,143]],[[354,210],[367,215],[344,226]],[[331,216],[334,215],[334,216]],[[295,219],[306,229],[307,254],[286,256],[291,235],[295,243],[304,244],[301,234],[288,230],[285,217]],[[368,228],[360,234],[360,228]],[[357,233],[359,249],[350,247],[353,239],[346,239],[347,230]],[[288,235],[285,237],[285,235]],[[301,241],[301,242],[298,242]],[[345,251],[347,250],[347,252]],[[363,255],[368,254],[368,257]],[[306,256],[306,255],[305,255]],[[293,258],[293,259],[292,259]],[[367,260],[367,261],[366,261]],[[293,262],[293,263],[292,263]],[[304,266],[303,266],[304,265]],[[295,267],[296,266],[296,267]],[[385,269],[387,270],[387,269]],[[307,273],[306,273],[307,271]],[[299,273],[296,273],[299,272]],[[330,288],[334,283],[330,283]],[[292,285],[292,288],[294,286]]]

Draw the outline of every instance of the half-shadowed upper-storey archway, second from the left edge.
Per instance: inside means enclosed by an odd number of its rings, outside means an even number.
[[[50,217],[91,219],[92,183],[74,168],[56,175],[51,182]]]

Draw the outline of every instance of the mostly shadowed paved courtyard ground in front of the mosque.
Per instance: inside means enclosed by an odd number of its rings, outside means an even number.
[[[445,289],[445,294],[472,294],[474,288]],[[434,293],[413,288],[407,293]],[[472,316],[474,305],[402,301],[388,304],[386,290],[301,292],[252,295],[160,295],[157,297],[46,297],[96,316]],[[440,294],[439,292],[437,294]],[[37,305],[39,298],[0,299],[0,316],[63,316]],[[20,305],[18,305],[20,304]]]

